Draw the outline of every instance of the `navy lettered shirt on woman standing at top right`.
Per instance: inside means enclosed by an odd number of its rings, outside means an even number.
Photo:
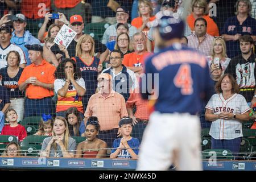
[[[256,35],[256,20],[248,16],[240,25],[237,16],[230,17],[226,20],[222,28],[221,35]],[[229,40],[226,42],[226,53],[228,57],[233,58],[241,54],[239,40]]]

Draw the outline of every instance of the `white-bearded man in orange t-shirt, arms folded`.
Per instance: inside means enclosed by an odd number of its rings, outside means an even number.
[[[145,57],[150,55],[150,52],[146,51],[146,37],[142,32],[133,35],[133,48],[134,52],[123,57],[123,65],[134,73],[140,74],[142,73]]]

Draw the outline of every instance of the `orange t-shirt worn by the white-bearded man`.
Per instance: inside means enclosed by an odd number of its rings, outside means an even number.
[[[144,52],[142,55],[137,55],[137,53],[127,53],[123,57],[122,64],[126,67],[140,67],[141,65],[144,65],[145,57],[150,55],[150,52]]]

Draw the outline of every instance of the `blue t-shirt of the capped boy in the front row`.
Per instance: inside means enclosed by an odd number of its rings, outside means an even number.
[[[114,143],[113,143],[113,148],[111,153],[114,153],[115,150],[117,150],[116,148],[119,147],[121,142],[121,138],[115,139]],[[135,154],[139,154],[139,139],[138,138],[131,138],[130,140],[127,141],[127,143],[129,144],[130,148],[133,148],[133,151]],[[131,159],[131,155],[129,154],[129,152],[127,151],[127,149],[122,149],[120,151],[120,153],[117,155],[117,158],[120,159]]]

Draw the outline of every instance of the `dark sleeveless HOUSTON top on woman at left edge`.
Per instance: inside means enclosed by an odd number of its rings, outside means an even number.
[[[7,67],[0,69],[0,75],[2,76],[2,85],[6,86],[7,90],[10,92],[11,98],[24,98],[24,92],[21,92],[18,86],[18,81],[22,72],[23,68],[19,68],[19,72],[17,73],[17,75],[11,78],[7,73]]]

